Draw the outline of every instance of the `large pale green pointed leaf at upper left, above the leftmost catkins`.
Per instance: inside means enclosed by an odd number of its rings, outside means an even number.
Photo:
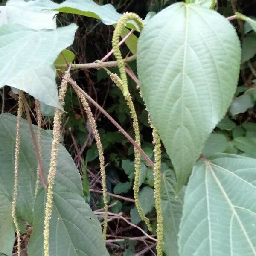
[[[57,108],[53,62],[72,44],[77,26],[35,31],[20,25],[0,27],[0,87],[9,85]]]

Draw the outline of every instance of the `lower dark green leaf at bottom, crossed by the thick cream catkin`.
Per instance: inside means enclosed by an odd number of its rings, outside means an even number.
[[[28,245],[28,256],[44,255],[44,189],[35,200],[35,222]],[[84,199],[64,187],[53,194],[50,221],[51,256],[108,256],[98,219]]]

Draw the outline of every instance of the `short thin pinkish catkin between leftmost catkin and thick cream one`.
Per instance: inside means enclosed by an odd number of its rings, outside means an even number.
[[[41,104],[37,99],[35,99],[35,111],[36,111],[37,123],[38,123],[38,129],[37,129],[37,132],[38,132],[38,151],[39,151],[39,157],[42,158],[42,139],[41,139],[42,115],[41,115]],[[34,198],[36,197],[36,195],[38,193],[39,180],[40,180],[40,163],[38,161],[38,167],[37,167],[37,170],[36,170]]]

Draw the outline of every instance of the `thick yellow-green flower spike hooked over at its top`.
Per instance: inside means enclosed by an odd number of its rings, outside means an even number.
[[[128,83],[127,83],[127,76],[125,73],[125,63],[122,59],[122,54],[118,44],[119,44],[119,38],[121,36],[122,29],[125,27],[128,20],[133,20],[139,27],[140,31],[142,31],[143,29],[143,22],[140,16],[132,12],[126,12],[118,21],[113,33],[112,47],[113,47],[114,55],[116,57],[116,61],[118,64],[118,68],[119,68],[119,72],[122,80],[124,96],[127,96],[128,94]]]

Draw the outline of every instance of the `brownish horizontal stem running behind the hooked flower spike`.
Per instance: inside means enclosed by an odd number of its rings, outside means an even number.
[[[137,55],[132,55],[130,57],[124,58],[124,62],[131,62],[136,60]],[[66,64],[55,65],[56,68],[65,68]],[[93,62],[93,63],[82,63],[82,64],[71,64],[71,70],[76,69],[90,69],[90,68],[102,68],[102,67],[117,67],[117,61],[107,61],[107,62]]]

